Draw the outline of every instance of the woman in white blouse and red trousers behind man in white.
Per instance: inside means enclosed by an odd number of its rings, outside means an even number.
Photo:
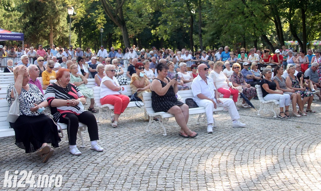
[[[230,64],[230,63],[229,63]],[[230,95],[233,95],[234,104],[238,101],[239,91],[230,83],[230,80],[223,74],[223,62],[217,61],[214,64],[214,69],[210,73],[210,77],[213,79],[214,85],[218,92],[223,94],[223,98],[230,98]],[[236,107],[239,110],[238,107]],[[223,111],[228,111],[227,108],[224,108]]]

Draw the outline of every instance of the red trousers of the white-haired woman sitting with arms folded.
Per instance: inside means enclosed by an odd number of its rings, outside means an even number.
[[[127,108],[130,99],[126,95],[107,95],[100,99],[100,103],[114,105],[114,114],[121,114]]]

